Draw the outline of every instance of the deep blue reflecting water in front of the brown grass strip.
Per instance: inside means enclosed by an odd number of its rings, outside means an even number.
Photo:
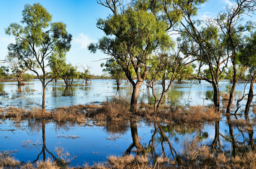
[[[92,123],[91,123],[92,124]],[[45,129],[43,130],[43,125]],[[140,143],[147,149],[151,144],[152,135],[155,132],[153,124],[137,123],[138,136]],[[197,128],[198,127],[198,128]],[[184,126],[162,125],[165,135],[170,139],[175,151],[180,153],[180,145],[183,139],[201,135],[201,141],[205,144],[211,144],[214,139],[214,125],[207,126]],[[110,128],[110,129],[109,129]],[[113,131],[111,127],[98,127],[81,125],[69,125],[56,123],[13,123],[4,121],[0,125],[1,150],[17,151],[15,158],[25,163],[30,161],[42,160],[44,155],[50,158],[57,158],[55,152],[56,147],[63,147],[64,152],[68,151],[72,166],[83,166],[85,163],[93,165],[94,162],[104,161],[109,155],[122,156],[124,152],[132,144],[132,135],[130,124],[124,123],[121,131]],[[225,124],[220,124],[220,133],[228,134]],[[45,138],[43,133],[45,132]],[[45,140],[45,146],[43,144]],[[164,148],[167,157],[172,158],[172,154],[167,142],[163,143],[159,129],[154,138],[155,152],[159,156],[162,155]],[[227,150],[231,148],[231,144],[225,139],[221,139],[223,146]],[[136,149],[133,149],[136,150]],[[147,149],[149,152],[151,149]]]

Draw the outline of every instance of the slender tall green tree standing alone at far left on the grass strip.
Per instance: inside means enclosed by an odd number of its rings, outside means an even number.
[[[23,18],[21,25],[11,23],[5,28],[7,35],[15,37],[16,44],[25,50],[30,50],[32,57],[20,55],[26,67],[34,72],[42,83],[43,100],[42,109],[45,109],[45,88],[54,79],[46,81],[46,67],[55,68],[57,76],[65,63],[66,53],[71,48],[72,35],[66,30],[63,22],[51,22],[52,15],[39,3],[25,4],[22,11]],[[36,62],[40,70],[32,67],[31,63]],[[42,78],[39,73],[43,74]]]

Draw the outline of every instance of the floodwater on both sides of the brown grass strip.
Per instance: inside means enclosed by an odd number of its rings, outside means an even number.
[[[42,104],[41,82],[34,80],[28,83],[21,87],[22,92],[17,92],[17,85],[13,85],[11,82],[0,83],[0,91],[8,93],[8,95],[0,95],[0,99],[26,96],[26,99],[32,101],[28,102],[25,99],[1,100],[1,107],[15,106],[29,109],[38,106],[37,104]],[[84,85],[84,83],[78,81],[75,85]],[[229,85],[228,81],[220,82],[220,92],[224,92],[225,85]],[[146,89],[145,86],[141,89],[139,102],[153,102],[150,90]],[[161,93],[160,89],[158,88],[157,93]],[[246,88],[245,92],[248,90],[249,87]],[[236,86],[236,91],[235,99],[243,94],[244,83],[240,82]],[[45,105],[46,109],[53,109],[77,104],[99,104],[107,101],[107,98],[119,96],[130,99],[131,94],[132,87],[128,82],[122,83],[120,91],[116,91],[116,84],[112,80],[93,80],[92,83],[72,87],[72,89],[65,89],[63,82],[51,82],[46,88]],[[190,105],[208,105],[212,104],[212,97],[211,84],[202,81],[201,84],[196,85],[186,81],[180,84],[174,83],[165,97],[165,102],[168,103],[168,100],[174,98],[179,99],[181,103],[189,103]],[[208,100],[204,98],[208,98]],[[27,163],[48,157],[57,158],[54,149],[63,147],[64,151],[68,151],[71,156],[75,157],[71,160],[72,166],[83,166],[86,163],[93,165],[106,160],[109,155],[122,156],[129,151],[130,147],[134,153],[132,145],[135,136],[138,136],[140,144],[147,149],[152,144],[152,136],[154,135],[154,150],[151,148],[149,152],[161,156],[164,150],[165,154],[172,158],[172,152],[167,141],[163,141],[163,133],[160,132],[160,128],[168,137],[173,149],[180,153],[183,140],[197,134],[200,134],[202,144],[211,144],[215,136],[214,124],[191,126],[124,122],[97,126],[93,121],[84,124],[70,124],[48,121],[17,123],[2,120],[0,121],[0,151],[17,151],[15,158]],[[237,141],[241,141],[243,137],[239,130],[234,129],[234,132]],[[229,134],[225,118],[220,121],[220,133],[223,136]],[[246,135],[246,133],[243,134]],[[231,141],[227,141],[225,138],[220,136],[220,142],[225,147],[225,151],[231,153]]]

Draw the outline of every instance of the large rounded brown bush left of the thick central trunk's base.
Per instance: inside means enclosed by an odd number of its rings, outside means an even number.
[[[130,104],[125,98],[114,98],[108,103],[103,102],[96,113],[99,115],[98,118],[103,116],[105,119],[112,121],[127,120],[131,115],[129,108]]]

